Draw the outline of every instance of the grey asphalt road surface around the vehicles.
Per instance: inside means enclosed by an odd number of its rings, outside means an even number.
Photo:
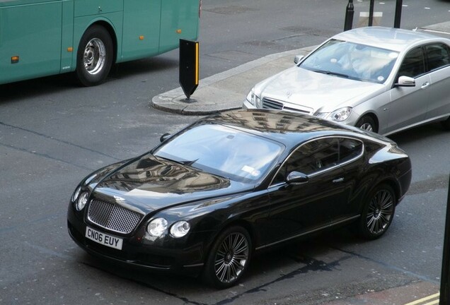
[[[376,1],[383,25],[393,23],[395,2]],[[355,16],[368,3],[354,1]],[[201,78],[318,44],[342,30],[346,4],[204,0]],[[449,19],[448,1],[403,4],[402,28]],[[117,65],[95,88],[77,87],[70,75],[0,85],[0,304],[322,304],[412,282],[439,285],[450,172],[450,134],[439,124],[392,136],[412,158],[413,181],[377,241],[342,229],[263,253],[241,285],[221,291],[84,253],[67,234],[71,192],[92,170],[145,152],[193,121],[149,107],[176,87],[176,51]]]

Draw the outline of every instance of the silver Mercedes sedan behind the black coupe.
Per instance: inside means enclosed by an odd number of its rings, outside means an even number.
[[[450,40],[348,30],[255,85],[243,108],[303,112],[384,135],[432,121],[450,129]]]

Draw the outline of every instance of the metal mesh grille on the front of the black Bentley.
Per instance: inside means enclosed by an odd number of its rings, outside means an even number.
[[[94,199],[89,204],[88,220],[114,232],[132,232],[141,218],[141,214],[113,203]]]

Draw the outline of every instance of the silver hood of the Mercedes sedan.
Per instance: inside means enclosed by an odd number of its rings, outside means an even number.
[[[355,107],[386,90],[385,85],[318,73],[294,66],[255,85],[255,94],[297,105],[314,114]],[[290,104],[290,105],[289,105]],[[295,107],[295,106],[294,106]]]

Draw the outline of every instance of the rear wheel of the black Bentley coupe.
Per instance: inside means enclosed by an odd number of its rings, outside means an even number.
[[[358,233],[365,239],[381,237],[391,226],[396,212],[396,193],[391,186],[380,184],[367,197],[358,221]]]

